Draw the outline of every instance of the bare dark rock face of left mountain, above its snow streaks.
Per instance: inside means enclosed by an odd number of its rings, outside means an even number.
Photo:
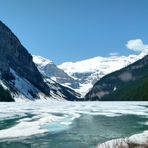
[[[49,87],[43,82],[41,74],[32,61],[32,56],[23,47],[12,31],[0,21],[0,71],[2,78],[12,68],[41,91],[49,94]]]

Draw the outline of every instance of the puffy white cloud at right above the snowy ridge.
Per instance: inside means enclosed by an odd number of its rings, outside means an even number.
[[[148,51],[148,44],[144,44],[141,39],[129,40],[126,47],[133,51]]]

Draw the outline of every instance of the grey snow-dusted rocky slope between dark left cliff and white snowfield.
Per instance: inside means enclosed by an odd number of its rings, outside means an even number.
[[[74,90],[66,87],[68,84],[75,87],[78,85],[77,82],[69,77],[64,71],[57,68],[52,61],[41,56],[33,56],[33,61],[42,74],[44,81],[51,88],[50,92],[52,97],[58,98],[59,100],[65,98],[70,101],[80,99],[81,96],[79,93],[76,93]],[[63,86],[64,84],[65,86]]]

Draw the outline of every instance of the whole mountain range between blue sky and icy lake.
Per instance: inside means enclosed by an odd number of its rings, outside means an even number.
[[[147,80],[147,52],[55,65],[0,22],[0,101],[146,101]]]

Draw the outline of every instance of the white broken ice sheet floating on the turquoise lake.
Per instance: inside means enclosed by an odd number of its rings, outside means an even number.
[[[0,103],[0,121],[15,119],[11,127],[0,130],[0,139],[26,137],[36,134],[50,133],[69,128],[76,118],[82,114],[116,117],[122,115],[140,115],[148,118],[147,102],[27,102]],[[142,143],[147,140],[145,132]],[[140,138],[131,136],[128,140]],[[120,140],[122,142],[122,140]],[[125,142],[125,141],[124,141]],[[109,142],[110,143],[110,142]]]

